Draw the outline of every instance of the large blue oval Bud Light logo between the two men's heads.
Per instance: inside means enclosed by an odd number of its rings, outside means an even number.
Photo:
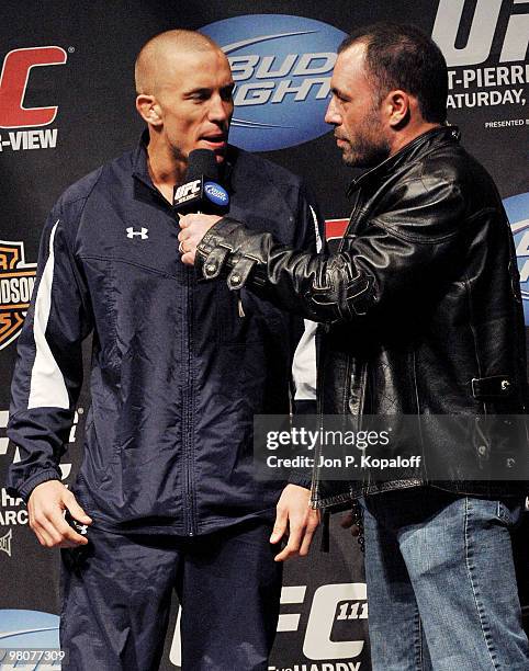
[[[235,81],[230,140],[249,151],[324,135],[338,29],[303,16],[252,14],[201,29],[229,59]]]

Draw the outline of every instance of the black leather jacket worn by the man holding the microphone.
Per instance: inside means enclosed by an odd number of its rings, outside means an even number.
[[[458,129],[439,127],[417,137],[363,173],[350,194],[353,211],[337,254],[293,251],[224,218],[203,238],[196,265],[205,278],[228,272],[230,288],[246,284],[325,323],[318,362],[323,413],[525,413],[525,330],[513,238],[491,177],[460,147]],[[519,453],[477,442],[441,442],[438,456],[451,465],[450,477],[431,484],[481,496],[524,492],[527,482],[507,477],[464,479],[460,466],[469,459],[519,465]],[[316,477],[313,499],[326,507],[428,482],[420,471],[386,482]]]

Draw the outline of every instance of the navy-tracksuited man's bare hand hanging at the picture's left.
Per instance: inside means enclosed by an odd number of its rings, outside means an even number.
[[[30,526],[38,543],[46,547],[77,547],[87,545],[88,539],[75,532],[65,521],[64,511],[81,524],[92,520],[76,501],[76,497],[59,480],[47,480],[37,485],[27,501]]]

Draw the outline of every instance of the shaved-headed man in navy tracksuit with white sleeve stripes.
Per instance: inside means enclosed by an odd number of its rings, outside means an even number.
[[[314,250],[317,216],[299,178],[227,144],[234,83],[210,38],[150,39],[136,88],[148,127],[137,149],[70,186],[44,230],[13,379],[10,487],[41,544],[65,548],[64,669],[156,669],[176,588],[184,669],[262,670],[281,561],[307,553],[317,516],[302,478],[256,480],[252,418],[289,411],[302,325],[196,282],[172,191],[190,151],[211,149],[234,217]],[[92,405],[69,491],[58,464],[90,333]],[[278,554],[270,541],[286,535]]]

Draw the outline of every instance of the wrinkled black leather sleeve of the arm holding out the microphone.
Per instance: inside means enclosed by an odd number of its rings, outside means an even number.
[[[372,315],[413,300],[429,276],[438,282],[464,225],[461,191],[442,177],[408,180],[390,200],[331,255],[295,251],[225,217],[203,237],[195,266],[206,280],[227,274],[230,289],[246,285],[316,321]]]

